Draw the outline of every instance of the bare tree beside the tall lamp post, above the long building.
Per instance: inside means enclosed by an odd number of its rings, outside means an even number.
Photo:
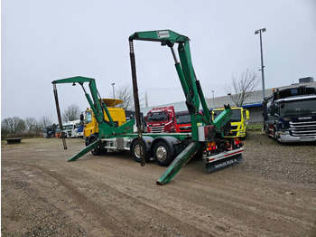
[[[255,71],[247,69],[241,72],[239,78],[233,76],[231,82],[229,85],[226,84],[224,89],[237,106],[242,106],[251,92],[256,90],[260,80],[257,78]]]

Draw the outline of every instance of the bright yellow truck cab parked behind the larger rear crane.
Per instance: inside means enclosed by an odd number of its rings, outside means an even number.
[[[213,109],[212,119],[216,119],[221,111],[224,109]],[[245,138],[247,133],[247,124],[249,119],[249,110],[242,107],[232,107],[232,116],[229,119],[231,124],[231,131],[226,137],[240,137]]]

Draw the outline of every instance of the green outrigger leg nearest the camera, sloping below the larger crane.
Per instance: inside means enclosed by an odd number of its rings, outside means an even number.
[[[173,161],[170,166],[164,171],[163,175],[157,180],[157,185],[168,184],[174,175],[176,175],[181,167],[185,166],[187,162],[194,156],[200,149],[198,142],[191,142]]]

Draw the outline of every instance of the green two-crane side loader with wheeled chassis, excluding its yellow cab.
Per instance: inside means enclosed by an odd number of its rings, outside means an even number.
[[[191,116],[191,133],[143,133],[140,118],[140,106],[138,98],[138,86],[135,67],[134,41],[160,42],[167,45],[172,51],[175,68],[186,98],[186,104]],[[178,43],[180,62],[173,50],[173,45]],[[197,80],[191,63],[190,40],[187,36],[174,33],[170,30],[138,32],[129,37],[130,60],[132,69],[132,81],[135,100],[136,118],[130,119],[123,125],[116,127],[107,109],[107,106],[98,93],[96,81],[92,78],[73,77],[57,81],[52,81],[56,109],[59,121],[60,107],[56,85],[59,83],[78,83],[88,100],[88,103],[98,121],[98,140],[90,143],[77,155],[70,157],[70,161],[77,160],[89,151],[98,147],[99,149],[130,150],[135,160],[144,166],[145,161],[154,157],[161,166],[168,166],[163,175],[157,180],[157,185],[165,185],[172,180],[182,166],[184,166],[192,156],[202,156],[206,160],[206,167],[209,171],[214,171],[232,164],[241,162],[243,143],[237,137],[225,137],[230,131],[229,119],[231,109],[225,109],[212,120],[207,103],[201,90],[200,81]],[[84,83],[88,83],[90,94],[85,90]],[[205,111],[199,112],[200,105]],[[104,119],[104,112],[108,121]],[[136,121],[137,132],[133,132]],[[64,148],[67,148],[63,139]]]

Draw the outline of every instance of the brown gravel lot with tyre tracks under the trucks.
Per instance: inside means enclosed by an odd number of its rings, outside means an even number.
[[[244,163],[208,174],[193,160],[165,168],[126,153],[70,156],[82,139],[2,142],[2,236],[316,236],[316,146],[246,138]]]

